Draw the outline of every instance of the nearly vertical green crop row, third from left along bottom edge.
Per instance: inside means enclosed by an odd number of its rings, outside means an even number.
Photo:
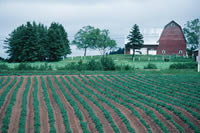
[[[40,133],[40,106],[38,100],[38,80],[34,77],[33,108],[34,108],[34,132]]]

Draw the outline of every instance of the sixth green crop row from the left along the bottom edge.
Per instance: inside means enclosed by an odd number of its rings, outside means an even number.
[[[65,89],[62,87],[61,83],[58,81],[58,79],[54,76],[55,82],[58,85],[59,89],[62,91],[63,95],[65,96],[65,98],[67,99],[67,101],[70,103],[70,105],[73,107],[75,115],[78,117],[78,119],[80,120],[80,126],[83,130],[83,133],[90,133],[90,131],[88,130],[88,125],[87,122],[85,122],[83,120],[83,115],[78,107],[78,105],[76,104],[76,102],[73,100],[73,98],[67,94],[67,92],[65,91]],[[63,80],[63,79],[62,79]],[[63,82],[65,84],[65,86],[68,86],[65,82]]]

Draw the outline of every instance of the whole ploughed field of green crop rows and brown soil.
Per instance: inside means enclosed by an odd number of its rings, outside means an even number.
[[[199,133],[200,75],[0,77],[0,133]]]

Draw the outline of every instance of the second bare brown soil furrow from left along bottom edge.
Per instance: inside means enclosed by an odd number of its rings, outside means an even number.
[[[26,116],[27,133],[34,133],[33,85],[34,85],[34,79],[33,76],[31,76],[31,85],[27,96],[27,116]]]

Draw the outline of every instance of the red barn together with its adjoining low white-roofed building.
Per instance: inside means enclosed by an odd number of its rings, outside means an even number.
[[[159,34],[159,33],[158,33]],[[186,55],[186,39],[184,37],[182,28],[175,21],[168,23],[159,36],[153,36],[151,43],[144,35],[144,47],[136,49],[136,54],[143,55]],[[149,36],[147,36],[149,37]],[[152,36],[150,36],[152,38]],[[147,40],[147,41],[146,41]],[[131,46],[127,45],[125,40],[124,54],[132,54]]]

